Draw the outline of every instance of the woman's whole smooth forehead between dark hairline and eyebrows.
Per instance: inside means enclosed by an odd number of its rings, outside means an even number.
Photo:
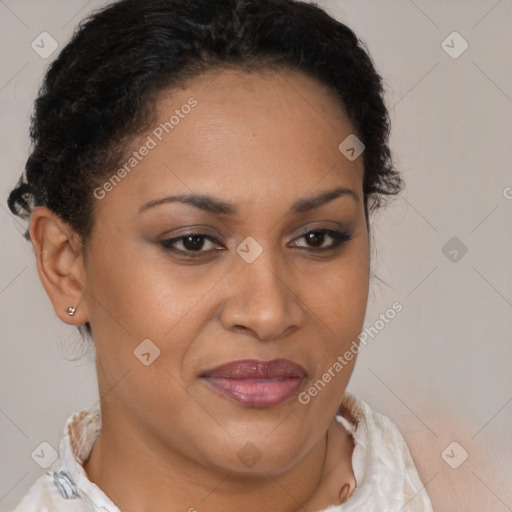
[[[153,125],[131,151],[151,149],[128,165],[122,184],[136,205],[165,192],[247,202],[277,188],[303,195],[322,180],[361,187],[362,158],[350,162],[338,149],[353,132],[342,105],[302,73],[214,70],[155,105]]]

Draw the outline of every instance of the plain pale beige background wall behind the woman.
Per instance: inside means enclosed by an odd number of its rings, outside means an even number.
[[[366,325],[395,301],[404,309],[370,339],[349,389],[401,429],[436,511],[510,510],[512,2],[320,4],[366,41],[385,79],[392,147],[407,182],[373,219],[382,281],[373,280]],[[56,55],[41,58],[31,42],[46,31],[62,48],[100,5],[0,1],[2,511],[42,472],[31,452],[42,441],[58,449],[69,414],[98,400],[92,358],[67,360],[79,353],[78,334],[54,315],[6,198],[27,157],[43,70]],[[442,47],[454,31],[469,44],[458,58]],[[450,51],[461,42],[448,38]],[[443,250],[453,237],[458,245]],[[451,461],[469,455],[457,469],[441,457],[454,441]]]

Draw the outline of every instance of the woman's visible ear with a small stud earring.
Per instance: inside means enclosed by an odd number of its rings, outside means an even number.
[[[55,314],[66,324],[82,325],[88,319],[85,272],[79,236],[45,206],[36,206],[30,218],[30,239],[37,272]],[[73,316],[68,307],[76,307]]]

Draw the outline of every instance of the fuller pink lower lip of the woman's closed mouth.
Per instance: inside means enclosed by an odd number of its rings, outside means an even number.
[[[203,378],[228,398],[249,407],[279,405],[295,395],[304,380],[298,377],[279,379]]]

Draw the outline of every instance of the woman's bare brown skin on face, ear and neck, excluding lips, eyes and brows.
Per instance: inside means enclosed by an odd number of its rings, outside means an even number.
[[[319,510],[355,485],[352,441],[334,420],[355,358],[306,405],[294,396],[244,406],[199,376],[233,360],[286,358],[306,369],[304,391],[357,341],[370,271],[363,160],[338,150],[354,130],[312,78],[225,69],[161,95],[154,127],[129,153],[191,97],[197,106],[96,201],[85,249],[45,207],[32,214],[38,272],[56,314],[93,330],[103,427],[85,469],[125,512]],[[290,211],[336,187],[357,199]],[[139,213],[178,193],[214,196],[239,212],[173,202]],[[315,229],[352,238],[320,252],[334,240],[308,243],[303,235]],[[206,255],[195,259],[161,245],[190,233],[216,242],[205,239]],[[236,252],[248,236],[263,249],[252,263]],[[160,350],[148,366],[134,355],[144,339]],[[260,457],[251,467],[239,458],[244,446]]]

